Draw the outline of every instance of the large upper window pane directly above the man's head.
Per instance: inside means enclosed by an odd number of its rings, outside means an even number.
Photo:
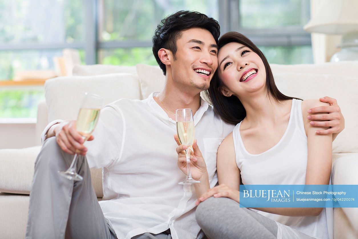
[[[178,10],[197,10],[218,19],[218,0],[102,0],[101,41],[150,40],[164,16]]]

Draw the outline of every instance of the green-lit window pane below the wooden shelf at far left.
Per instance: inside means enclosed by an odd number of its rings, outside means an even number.
[[[36,118],[37,105],[44,99],[44,90],[40,89],[0,89],[0,118]]]

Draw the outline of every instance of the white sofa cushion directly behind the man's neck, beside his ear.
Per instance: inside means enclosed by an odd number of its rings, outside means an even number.
[[[159,66],[137,64],[137,73],[142,99],[147,99],[152,92],[161,91],[161,89],[163,89],[165,76]]]

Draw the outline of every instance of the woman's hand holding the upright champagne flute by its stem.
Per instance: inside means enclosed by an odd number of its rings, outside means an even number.
[[[182,170],[183,173],[185,173],[185,175],[187,175],[187,158],[185,157],[185,149],[188,149],[188,146],[180,145],[177,134],[174,135],[174,139],[179,145],[176,148],[176,153],[178,153],[178,167],[180,170]],[[191,151],[190,153],[190,172],[194,180],[202,181],[200,179],[204,178],[205,176],[206,178],[208,177],[208,171],[206,169],[206,164],[196,139],[193,143],[193,150],[194,152]]]

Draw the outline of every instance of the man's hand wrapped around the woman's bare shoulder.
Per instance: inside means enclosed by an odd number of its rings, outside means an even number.
[[[323,126],[331,127],[326,130],[317,130],[317,134],[336,134],[342,132],[344,129],[344,117],[340,111],[340,107],[337,104],[337,100],[331,97],[323,97],[319,99],[322,102],[327,102],[329,105],[315,107],[308,110],[309,114],[313,113],[328,113],[328,114],[319,114],[319,115],[309,115],[307,118],[310,121],[312,126]],[[314,120],[324,120],[324,121],[314,121]]]

